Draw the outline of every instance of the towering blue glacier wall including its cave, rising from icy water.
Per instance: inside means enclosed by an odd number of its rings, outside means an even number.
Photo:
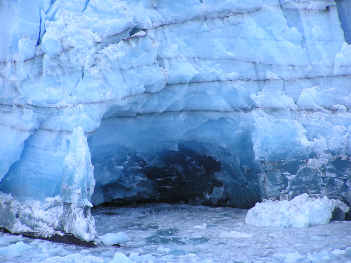
[[[0,226],[90,208],[351,201],[351,2],[3,0]]]

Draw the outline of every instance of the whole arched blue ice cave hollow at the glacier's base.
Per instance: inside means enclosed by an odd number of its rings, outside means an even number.
[[[228,122],[223,118],[206,123],[210,135],[191,134],[184,120],[179,124],[179,115],[102,119],[88,139],[96,180],[94,205],[173,202],[249,209],[260,201],[260,171],[257,164],[245,164],[254,159],[253,152],[242,154],[241,160],[232,153],[250,149],[247,142],[233,140],[225,147],[220,129]]]

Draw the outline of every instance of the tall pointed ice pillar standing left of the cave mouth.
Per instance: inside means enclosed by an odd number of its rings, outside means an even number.
[[[74,128],[62,171],[63,212],[55,225],[56,229],[87,242],[97,236],[90,211],[94,186],[94,166],[87,139],[81,127]]]

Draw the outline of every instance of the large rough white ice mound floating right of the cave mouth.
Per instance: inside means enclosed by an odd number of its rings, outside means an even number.
[[[309,197],[304,193],[287,201],[264,200],[246,215],[245,223],[256,227],[307,228],[329,223],[335,208],[347,213],[350,208],[335,199]]]

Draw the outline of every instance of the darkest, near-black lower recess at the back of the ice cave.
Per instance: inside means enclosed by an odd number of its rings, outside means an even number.
[[[134,156],[138,159],[136,156]],[[129,159],[130,160],[130,159]],[[167,150],[152,162],[133,160],[137,169],[125,169],[126,174],[115,182],[95,187],[93,202],[101,195],[111,204],[170,202],[227,206],[223,182],[216,178],[221,171],[219,161],[183,147]],[[126,187],[128,186],[128,187]],[[215,193],[221,192],[221,193]],[[96,202],[96,201],[95,201]]]

